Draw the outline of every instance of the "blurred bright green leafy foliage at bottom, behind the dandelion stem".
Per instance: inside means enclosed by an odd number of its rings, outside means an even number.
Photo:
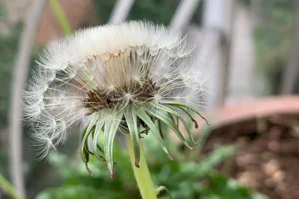
[[[202,147],[207,132],[204,131],[197,140],[198,149]],[[169,144],[169,138],[166,137],[165,142],[175,158],[170,161],[150,133],[144,142],[154,184],[168,188],[173,199],[266,199],[213,169],[233,155],[233,146],[220,146],[201,155],[200,150],[178,149],[175,144]],[[42,191],[36,199],[140,198],[127,151],[116,146],[114,159],[118,162],[115,166],[116,179],[111,180],[107,166],[93,157],[89,162],[93,172],[90,177],[83,164],[78,166],[77,160],[59,155],[55,166],[63,176],[64,183],[60,187]],[[169,195],[162,191],[158,198],[169,199]]]

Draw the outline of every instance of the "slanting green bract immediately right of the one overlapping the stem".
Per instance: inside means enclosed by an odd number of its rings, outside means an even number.
[[[170,155],[170,153],[168,152],[162,137],[160,135],[160,133],[157,131],[154,123],[151,121],[149,115],[147,114],[147,112],[145,111],[145,109],[142,106],[139,106],[136,109],[136,114],[139,118],[141,118],[150,128],[150,130],[152,131],[154,137],[157,139],[158,143],[160,144],[160,146],[162,147],[162,149],[164,150],[164,152],[166,153],[167,157],[170,160],[173,160],[173,157]]]

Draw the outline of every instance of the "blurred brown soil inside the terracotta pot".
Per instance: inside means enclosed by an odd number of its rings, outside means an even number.
[[[299,199],[299,115],[222,126],[212,131],[205,150],[231,143],[238,150],[220,171],[270,199]]]

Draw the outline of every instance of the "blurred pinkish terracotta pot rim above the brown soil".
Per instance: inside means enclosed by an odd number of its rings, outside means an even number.
[[[259,100],[242,101],[233,105],[206,110],[203,115],[212,129],[273,115],[299,115],[299,96],[275,96]],[[206,126],[200,117],[196,118],[199,129]],[[197,130],[194,130],[198,132]]]

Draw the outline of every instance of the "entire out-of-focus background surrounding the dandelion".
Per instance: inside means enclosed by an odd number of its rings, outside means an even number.
[[[211,126],[198,119],[195,152],[171,145],[171,162],[147,140],[154,183],[174,199],[299,199],[298,0],[0,0],[0,174],[17,193],[0,178],[0,199],[139,198],[126,150],[115,149],[116,180],[93,159],[90,177],[79,132],[56,161],[36,161],[20,120],[24,82],[48,42],[128,19],[188,34],[210,91]]]

